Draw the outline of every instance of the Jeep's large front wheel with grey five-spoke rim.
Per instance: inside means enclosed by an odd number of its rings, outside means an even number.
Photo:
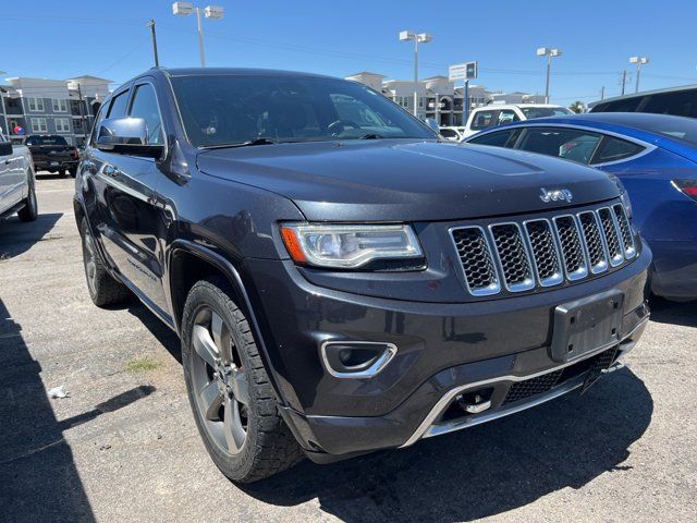
[[[228,289],[229,285],[223,279],[215,278],[210,281],[198,281],[189,291],[182,318],[182,363],[196,426],[208,453],[220,471],[233,482],[253,483],[293,466],[301,461],[303,453],[278,412],[276,394],[249,324],[230,297],[232,293]],[[220,342],[213,343],[215,346],[229,348],[230,367],[234,368],[225,367],[223,356],[217,360],[218,366],[213,368],[200,356],[200,350],[195,348],[193,338],[200,339],[199,332],[204,327],[199,318],[205,318],[207,312],[213,316],[218,315],[218,325],[222,326],[221,330],[218,330]],[[217,354],[221,355],[225,350]],[[201,369],[207,374],[201,374]],[[227,392],[224,390],[225,385],[222,381],[231,379],[229,376],[233,373],[237,376],[244,375],[246,394],[243,396],[246,404],[244,400],[235,398],[235,386],[228,387]],[[203,376],[203,382],[197,376]],[[219,404],[216,406],[215,400],[201,404],[205,398],[203,389],[215,385],[219,388],[222,386],[217,392],[219,396],[216,397]],[[225,401],[236,402],[240,409],[234,411],[237,414],[232,417],[244,425],[242,443],[230,445],[229,438],[234,436],[225,431],[228,424],[224,418],[225,413],[233,411],[228,410]],[[211,412],[217,414],[211,416]]]

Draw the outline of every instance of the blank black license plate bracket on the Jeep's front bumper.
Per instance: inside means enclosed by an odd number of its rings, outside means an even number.
[[[567,363],[620,342],[624,294],[610,290],[554,308],[550,356]]]

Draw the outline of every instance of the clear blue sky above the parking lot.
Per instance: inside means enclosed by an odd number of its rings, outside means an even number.
[[[335,76],[367,70],[411,78],[412,48],[398,39],[400,31],[411,29],[435,36],[419,52],[421,77],[478,60],[476,83],[491,89],[543,93],[545,63],[535,49],[559,47],[563,57],[553,62],[551,95],[563,105],[598,99],[603,85],[607,96],[617,95],[620,73],[633,71],[627,62],[635,54],[651,61],[641,73],[643,90],[697,83],[694,0],[213,1],[225,8],[225,17],[205,21],[208,65]],[[198,64],[195,19],[172,15],[170,1],[8,3],[0,53],[4,76],[94,74],[125,81],[152,65],[150,19],[157,22],[163,65]],[[628,89],[634,90],[633,76]]]

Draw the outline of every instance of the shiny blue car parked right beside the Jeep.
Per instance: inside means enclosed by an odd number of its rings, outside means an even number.
[[[617,177],[653,251],[651,291],[697,299],[697,120],[577,114],[504,125],[464,142],[557,156]]]

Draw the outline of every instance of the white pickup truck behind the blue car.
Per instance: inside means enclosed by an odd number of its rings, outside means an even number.
[[[566,114],[573,114],[573,112],[565,107],[547,104],[493,104],[473,109],[462,134],[463,138],[466,138],[486,129],[506,123]]]

